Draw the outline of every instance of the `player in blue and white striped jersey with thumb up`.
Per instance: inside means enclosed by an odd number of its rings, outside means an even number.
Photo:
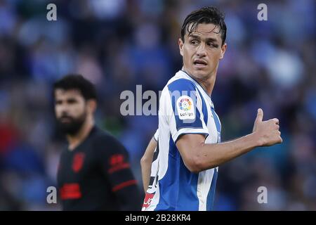
[[[226,30],[223,13],[215,7],[185,18],[178,40],[183,68],[162,91],[157,144],[152,139],[142,159],[143,210],[212,210],[218,165],[258,146],[282,143],[279,121],[263,121],[261,109],[251,134],[220,143],[211,94],[227,49]],[[151,157],[148,169],[144,159]]]

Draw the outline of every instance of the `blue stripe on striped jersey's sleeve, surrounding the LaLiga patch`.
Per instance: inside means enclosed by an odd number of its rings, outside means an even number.
[[[176,93],[176,91],[179,91],[180,96],[183,96],[183,91],[187,91],[187,95],[190,96],[190,91],[196,91],[196,86],[195,84],[190,81],[189,79],[177,79],[174,82],[172,82],[171,84],[168,85],[168,89],[169,91],[172,93]],[[180,97],[179,96],[179,97]],[[193,96],[190,96],[191,98]],[[203,128],[202,126],[202,121],[200,119],[200,114],[199,114],[199,110],[197,110],[197,95],[195,94],[195,99],[192,98],[192,100],[194,101],[194,105],[195,105],[195,120],[192,122],[188,122],[188,121],[183,121],[179,119],[178,116],[178,110],[176,107],[176,100],[174,96],[171,95],[171,104],[172,104],[172,108],[173,108],[173,113],[175,116],[175,120],[176,120],[176,128],[177,131],[181,128],[186,128],[186,127],[190,127],[190,128]]]

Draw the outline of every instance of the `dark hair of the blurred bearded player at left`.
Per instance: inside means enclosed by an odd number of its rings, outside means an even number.
[[[75,89],[81,92],[81,95],[85,100],[97,100],[95,86],[81,75],[66,75],[65,77],[62,77],[62,79],[59,79],[53,85],[53,90],[55,91],[56,89],[63,89],[66,91]]]

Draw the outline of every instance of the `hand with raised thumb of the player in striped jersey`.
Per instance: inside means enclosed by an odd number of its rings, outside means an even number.
[[[276,143],[282,143],[279,120],[274,118],[263,121],[263,110],[261,108],[258,109],[252,132],[256,134],[259,146],[272,146]]]

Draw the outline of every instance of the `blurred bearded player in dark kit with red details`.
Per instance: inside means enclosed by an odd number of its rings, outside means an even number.
[[[58,168],[62,209],[140,210],[140,191],[126,149],[94,122],[93,84],[81,75],[67,75],[53,89],[55,117],[68,141]]]

